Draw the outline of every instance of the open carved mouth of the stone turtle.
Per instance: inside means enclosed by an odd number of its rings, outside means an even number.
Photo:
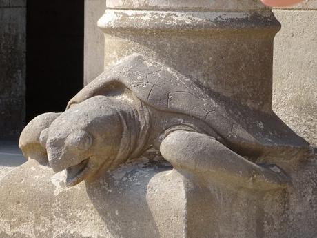
[[[84,159],[81,163],[76,166],[71,166],[66,168],[66,185],[67,186],[75,186],[79,184],[81,181],[86,179],[90,173],[89,166],[90,158]]]

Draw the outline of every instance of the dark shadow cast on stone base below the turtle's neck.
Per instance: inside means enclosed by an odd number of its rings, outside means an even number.
[[[153,203],[147,195],[152,190],[151,184],[159,182],[155,181],[155,177],[170,169],[170,166],[162,166],[155,161],[128,163],[93,183],[86,182],[94,208],[114,237],[161,237],[150,208]]]

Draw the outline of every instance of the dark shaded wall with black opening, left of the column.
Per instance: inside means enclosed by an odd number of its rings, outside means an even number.
[[[83,26],[84,0],[0,0],[0,139],[83,87]]]

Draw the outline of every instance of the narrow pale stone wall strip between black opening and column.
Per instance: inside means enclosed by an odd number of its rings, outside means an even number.
[[[84,84],[103,72],[103,32],[97,21],[105,12],[105,0],[85,0]]]

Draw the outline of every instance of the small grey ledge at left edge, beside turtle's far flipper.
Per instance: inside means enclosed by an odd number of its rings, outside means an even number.
[[[24,162],[17,141],[0,141],[0,179]]]

